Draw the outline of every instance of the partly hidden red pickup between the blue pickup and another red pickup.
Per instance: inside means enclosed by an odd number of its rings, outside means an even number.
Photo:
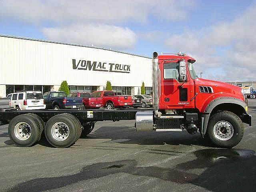
[[[86,109],[97,109],[102,107],[102,98],[94,98],[87,92],[73,92],[69,94],[70,97],[82,97],[83,104]]]

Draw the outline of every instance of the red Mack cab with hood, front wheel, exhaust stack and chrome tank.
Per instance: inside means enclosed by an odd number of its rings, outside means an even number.
[[[198,78],[195,64],[186,54],[154,52],[154,111],[137,112],[137,131],[200,132],[218,147],[233,147],[242,139],[243,123],[252,124],[242,88]]]

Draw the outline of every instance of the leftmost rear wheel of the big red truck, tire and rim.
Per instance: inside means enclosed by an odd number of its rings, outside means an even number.
[[[30,147],[40,139],[40,123],[34,116],[18,115],[10,121],[8,134],[16,146]]]

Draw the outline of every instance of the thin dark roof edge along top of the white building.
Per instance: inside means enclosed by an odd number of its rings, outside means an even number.
[[[40,42],[47,42],[47,43],[56,43],[56,44],[64,44],[64,45],[72,45],[72,46],[79,46],[79,47],[102,49],[102,50],[113,51],[113,52],[118,52],[118,53],[122,53],[122,54],[128,54],[128,55],[133,55],[133,56],[152,59],[151,57],[146,57],[146,56],[142,56],[142,55],[132,54],[132,53],[128,53],[128,52],[122,52],[122,51],[118,51],[118,50],[112,50],[112,49],[107,49],[107,48],[97,47],[97,46],[95,47],[95,46],[89,46],[89,45],[74,44],[74,43],[68,43],[68,42],[59,42],[59,41],[50,41],[50,40],[20,37],[20,36],[12,36],[12,35],[5,35],[5,34],[0,34],[0,37],[16,38],[16,39],[23,39],[23,40],[40,41]]]

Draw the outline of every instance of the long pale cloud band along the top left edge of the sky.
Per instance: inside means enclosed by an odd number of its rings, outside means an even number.
[[[147,22],[152,15],[161,20],[184,20],[194,0],[1,0],[0,18],[26,22]]]

